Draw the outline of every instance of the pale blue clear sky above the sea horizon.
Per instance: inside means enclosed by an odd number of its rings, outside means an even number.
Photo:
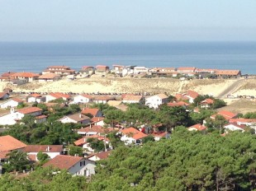
[[[255,0],[0,0],[0,41],[250,41]]]

